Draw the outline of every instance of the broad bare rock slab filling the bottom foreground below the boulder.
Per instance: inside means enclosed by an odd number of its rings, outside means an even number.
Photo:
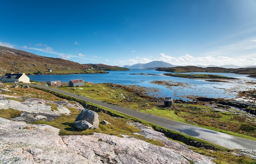
[[[49,125],[0,118],[0,163],[189,164],[171,149],[136,138],[102,133],[58,136],[58,131]]]

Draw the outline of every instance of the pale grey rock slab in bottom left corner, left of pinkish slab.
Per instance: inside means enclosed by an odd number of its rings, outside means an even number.
[[[60,129],[49,125],[31,125],[0,118],[1,164],[90,163],[67,149]]]

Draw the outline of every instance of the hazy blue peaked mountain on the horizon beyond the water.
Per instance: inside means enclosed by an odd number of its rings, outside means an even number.
[[[145,68],[171,68],[171,67],[177,67],[174,66],[170,63],[166,63],[164,61],[151,61],[149,63],[138,63],[138,64],[134,64],[132,66],[124,66],[124,68],[129,68],[129,69],[145,69]]]

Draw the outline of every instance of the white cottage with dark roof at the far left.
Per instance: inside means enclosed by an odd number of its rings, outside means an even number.
[[[2,82],[10,83],[10,82],[23,82],[29,83],[29,77],[25,73],[22,74],[15,74],[11,72],[10,74],[7,73],[2,77]]]

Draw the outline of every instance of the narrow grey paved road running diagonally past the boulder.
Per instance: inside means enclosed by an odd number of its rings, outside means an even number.
[[[24,84],[24,85],[28,85],[28,84]],[[29,84],[31,85],[31,84]],[[45,88],[48,90],[53,90],[62,94],[66,94],[69,96],[73,96],[75,98],[79,98],[83,101],[87,101],[90,103],[94,103],[97,105],[101,105],[103,107],[107,107],[109,109],[113,109],[115,111],[130,115],[132,117],[136,117],[142,120],[146,120],[148,122],[152,122],[156,125],[159,125],[161,127],[165,127],[174,131],[178,131],[181,133],[185,133],[189,136],[193,136],[196,138],[200,138],[209,142],[212,142],[214,144],[218,144],[222,147],[227,147],[229,149],[256,149],[256,142],[252,141],[252,140],[247,140],[244,138],[239,138],[236,136],[231,136],[228,135],[226,133],[221,133],[218,131],[213,131],[213,130],[209,130],[209,129],[204,129],[201,127],[196,127],[193,125],[189,125],[186,123],[182,123],[182,122],[177,122],[177,121],[173,121],[173,120],[168,120],[165,118],[161,118],[161,117],[157,117],[157,116],[152,116],[150,114],[144,114],[132,109],[127,109],[124,107],[119,107],[116,105],[111,105],[108,103],[103,103],[101,101],[96,101],[90,98],[86,98],[83,96],[79,96],[76,94],[72,94],[69,92],[65,92],[62,90],[58,90],[52,87],[47,87],[46,85],[31,85],[31,86],[35,86],[35,87],[41,87],[41,88]]]

